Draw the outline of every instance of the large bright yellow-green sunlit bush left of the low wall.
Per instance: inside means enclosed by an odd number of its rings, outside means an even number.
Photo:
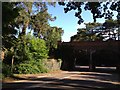
[[[45,41],[31,35],[24,37],[24,42],[19,43],[16,48],[15,73],[32,74],[47,72],[43,60],[48,57]]]

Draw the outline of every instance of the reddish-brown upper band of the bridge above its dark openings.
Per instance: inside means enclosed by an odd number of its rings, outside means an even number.
[[[62,42],[60,46],[71,46],[74,49],[120,49],[120,41],[94,41],[94,42]]]

